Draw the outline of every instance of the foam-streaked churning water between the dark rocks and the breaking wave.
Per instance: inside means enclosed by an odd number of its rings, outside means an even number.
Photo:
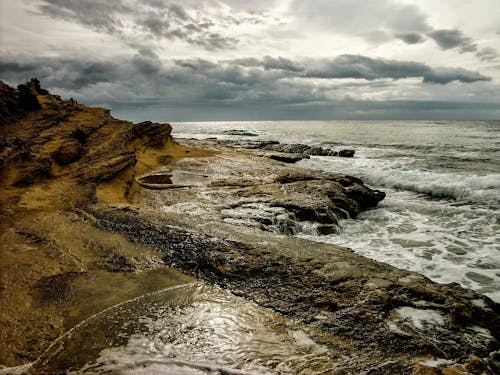
[[[354,249],[432,280],[500,300],[500,213],[389,190],[375,210],[342,220],[340,233],[307,236]]]

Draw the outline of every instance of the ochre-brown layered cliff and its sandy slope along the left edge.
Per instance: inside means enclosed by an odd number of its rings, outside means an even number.
[[[102,307],[64,319],[71,280],[114,271],[127,251],[137,252],[136,263],[151,252],[117,246],[123,240],[93,229],[82,209],[97,201],[99,184],[114,179],[111,194],[124,198],[136,174],[161,165],[160,155],[175,160],[185,152],[169,124],[117,120],[108,109],[49,95],[36,82],[20,89],[0,82],[2,365],[37,358],[50,340]]]

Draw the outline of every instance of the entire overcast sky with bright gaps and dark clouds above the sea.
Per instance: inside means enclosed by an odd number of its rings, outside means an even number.
[[[0,0],[0,79],[131,121],[500,119],[500,0]]]

